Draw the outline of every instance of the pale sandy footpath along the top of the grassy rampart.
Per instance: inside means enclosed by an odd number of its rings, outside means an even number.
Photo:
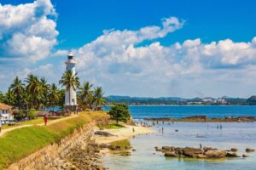
[[[79,115],[71,115],[71,116],[67,116],[67,117],[63,117],[63,118],[60,118],[60,119],[50,121],[50,122],[47,123],[47,126],[49,126],[51,124],[54,124],[55,122],[61,122],[61,121],[65,121],[67,119],[71,119],[71,118],[76,117],[76,116],[79,116]],[[43,119],[43,117],[42,117],[42,119]],[[9,128],[3,129],[0,133],[0,137],[3,136],[3,134],[8,133],[9,131],[12,131],[12,130],[15,130],[15,129],[18,129],[18,128],[32,127],[32,126],[44,126],[44,122],[38,123],[38,124],[20,125],[20,126],[16,126],[16,127],[9,127]]]

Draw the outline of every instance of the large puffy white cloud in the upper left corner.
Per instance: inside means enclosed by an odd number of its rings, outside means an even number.
[[[0,60],[27,62],[46,58],[57,43],[58,31],[51,19],[55,15],[50,0],[17,6],[0,4]]]

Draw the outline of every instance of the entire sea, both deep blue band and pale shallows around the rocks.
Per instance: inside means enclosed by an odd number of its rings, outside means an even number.
[[[109,107],[104,108],[109,111]],[[256,116],[256,106],[244,105],[136,105],[129,106],[131,116],[137,122],[145,117],[185,117],[204,115],[208,117]],[[152,122],[146,122],[148,124]],[[219,127],[222,128],[219,128]],[[256,149],[255,122],[160,122],[153,126],[155,133],[143,134],[130,140],[136,149],[131,156],[108,154],[102,156],[105,167],[113,170],[133,169],[179,169],[179,170],[255,170],[256,153],[246,153],[246,148]],[[164,129],[162,132],[161,129]],[[195,159],[169,158],[154,150],[161,147],[210,146],[221,150],[237,148],[238,155],[247,158]]]

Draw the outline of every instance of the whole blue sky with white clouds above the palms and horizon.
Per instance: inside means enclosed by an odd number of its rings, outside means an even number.
[[[0,0],[0,90],[58,83],[69,51],[105,95],[256,94],[253,0]]]

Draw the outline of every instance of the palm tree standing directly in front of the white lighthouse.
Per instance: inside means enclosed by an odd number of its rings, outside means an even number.
[[[77,74],[78,73],[73,75],[72,71],[66,71],[63,74],[63,76],[61,77],[61,80],[59,82],[62,87],[66,86],[66,90],[68,90],[68,93],[69,93],[69,99],[68,99],[69,106],[71,105],[71,99],[70,99],[71,88],[73,88],[73,90],[75,91],[79,87],[79,85],[80,85],[79,77],[77,77]]]

